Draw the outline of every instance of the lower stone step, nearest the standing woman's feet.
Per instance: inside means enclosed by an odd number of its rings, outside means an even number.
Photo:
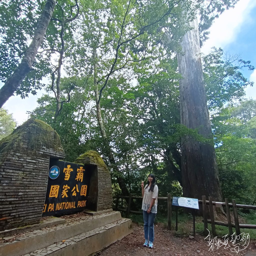
[[[52,243],[50,246],[35,250],[23,256],[88,256],[108,247],[132,232],[130,219],[120,219],[105,226],[81,233],[63,242]]]

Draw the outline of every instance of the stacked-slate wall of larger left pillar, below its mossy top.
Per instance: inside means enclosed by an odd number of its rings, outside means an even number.
[[[0,166],[0,230],[39,223],[44,207],[49,157],[64,152],[41,147],[31,154],[26,147],[10,151]]]

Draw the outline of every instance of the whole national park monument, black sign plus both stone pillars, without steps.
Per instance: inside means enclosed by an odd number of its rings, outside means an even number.
[[[41,120],[27,120],[0,141],[0,231],[42,216],[112,210],[111,176],[99,153],[64,158],[59,135]]]

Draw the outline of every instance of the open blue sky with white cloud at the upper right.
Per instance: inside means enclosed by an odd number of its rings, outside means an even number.
[[[210,38],[201,48],[207,54],[211,47],[221,47],[230,55],[240,55],[242,60],[250,60],[256,68],[256,0],[240,0],[235,8],[226,10],[210,28]],[[243,75],[255,82],[246,89],[246,97],[256,99],[256,70],[244,69]]]

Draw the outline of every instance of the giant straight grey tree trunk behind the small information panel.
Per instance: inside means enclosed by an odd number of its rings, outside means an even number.
[[[199,134],[213,138],[207,109],[204,78],[200,57],[198,24],[183,37],[182,52],[178,53],[180,79],[181,124],[198,129]],[[218,167],[214,146],[186,137],[182,139],[182,180],[185,197],[202,199],[211,196],[221,201]]]

